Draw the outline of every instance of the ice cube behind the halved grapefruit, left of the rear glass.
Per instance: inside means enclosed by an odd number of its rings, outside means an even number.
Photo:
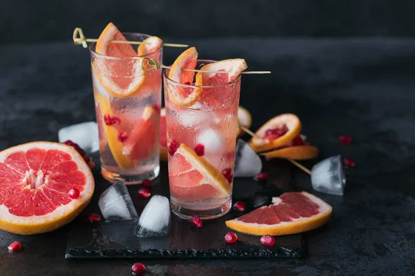
[[[95,121],[86,121],[61,128],[57,132],[59,142],[71,140],[78,144],[86,154],[100,150],[100,138],[98,137],[98,126]]]

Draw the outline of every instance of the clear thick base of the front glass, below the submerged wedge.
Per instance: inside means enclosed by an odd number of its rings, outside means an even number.
[[[184,208],[182,206],[178,206],[173,201],[170,202],[170,208],[172,208],[172,212],[181,217],[182,219],[191,219],[193,216],[198,216],[201,219],[216,219],[217,217],[222,217],[226,215],[232,206],[232,199],[229,199],[228,202],[223,204],[222,206],[208,209],[208,210],[194,210],[189,208]]]

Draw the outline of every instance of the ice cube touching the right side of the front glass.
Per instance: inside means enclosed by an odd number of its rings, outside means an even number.
[[[257,152],[238,139],[235,151],[234,177],[254,177],[262,170],[262,162]]]

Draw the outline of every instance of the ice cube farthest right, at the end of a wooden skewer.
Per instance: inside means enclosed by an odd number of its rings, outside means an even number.
[[[311,169],[311,184],[318,192],[343,195],[346,178],[340,155],[329,157],[315,164]]]

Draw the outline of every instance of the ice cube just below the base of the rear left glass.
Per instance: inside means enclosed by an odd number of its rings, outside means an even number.
[[[110,221],[138,219],[136,208],[134,208],[124,181],[118,181],[107,188],[100,196],[98,206],[104,219]]]

